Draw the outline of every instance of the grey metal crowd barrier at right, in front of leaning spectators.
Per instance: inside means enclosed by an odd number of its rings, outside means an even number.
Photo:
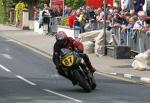
[[[146,35],[146,32],[138,30],[125,32],[118,28],[114,29],[113,33],[117,37],[118,45],[129,46],[131,50],[136,53],[141,53],[150,49],[150,37]]]

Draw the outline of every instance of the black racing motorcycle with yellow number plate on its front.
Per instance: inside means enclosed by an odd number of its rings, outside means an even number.
[[[71,78],[75,85],[78,84],[87,92],[94,90],[96,88],[94,76],[87,69],[79,53],[66,48],[60,51],[60,62],[65,77]]]

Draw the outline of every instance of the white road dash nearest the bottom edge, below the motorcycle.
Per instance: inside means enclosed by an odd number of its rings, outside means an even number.
[[[48,89],[43,89],[43,90],[46,91],[46,92],[48,92],[48,93],[52,93],[52,94],[55,94],[55,95],[58,95],[58,96],[61,96],[61,97],[64,97],[64,98],[67,98],[67,99],[79,102],[79,103],[83,102],[81,100],[78,100],[78,99],[75,99],[75,98],[72,98],[72,97],[69,97],[69,96],[66,96],[66,95],[63,95],[63,94],[60,94],[60,93],[48,90]]]

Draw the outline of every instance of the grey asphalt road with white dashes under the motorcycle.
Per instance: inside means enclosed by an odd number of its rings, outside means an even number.
[[[85,93],[59,76],[51,60],[0,38],[0,103],[149,103],[150,87],[95,74]]]

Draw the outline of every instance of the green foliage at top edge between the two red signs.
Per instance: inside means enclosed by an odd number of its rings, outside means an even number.
[[[65,5],[72,9],[77,9],[85,5],[85,0],[65,0]]]

